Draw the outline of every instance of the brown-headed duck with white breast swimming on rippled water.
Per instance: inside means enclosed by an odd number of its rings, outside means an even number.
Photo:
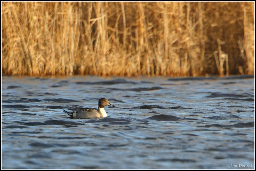
[[[103,118],[107,117],[107,113],[104,110],[103,107],[105,106],[112,106],[106,98],[101,98],[98,102],[98,109],[95,108],[75,108],[72,109],[72,112],[65,111],[62,109],[65,113],[67,113],[71,118]]]

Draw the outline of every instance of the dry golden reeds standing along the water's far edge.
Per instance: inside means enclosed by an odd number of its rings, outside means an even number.
[[[2,74],[254,74],[254,2],[2,2]]]

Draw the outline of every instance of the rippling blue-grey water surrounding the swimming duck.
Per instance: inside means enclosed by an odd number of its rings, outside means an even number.
[[[232,168],[254,169],[254,76],[2,77],[2,169]]]

